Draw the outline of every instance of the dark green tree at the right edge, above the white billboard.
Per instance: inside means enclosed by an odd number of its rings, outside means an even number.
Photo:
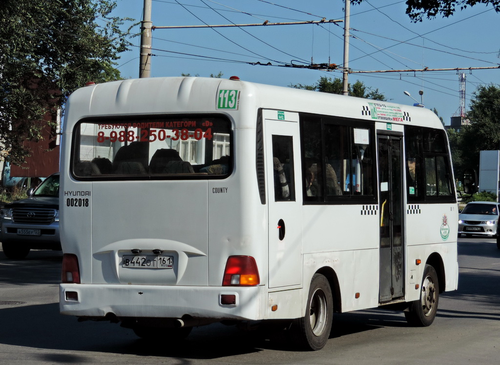
[[[479,85],[473,92],[456,143],[464,167],[478,168],[479,151],[500,148],[500,87]]]

